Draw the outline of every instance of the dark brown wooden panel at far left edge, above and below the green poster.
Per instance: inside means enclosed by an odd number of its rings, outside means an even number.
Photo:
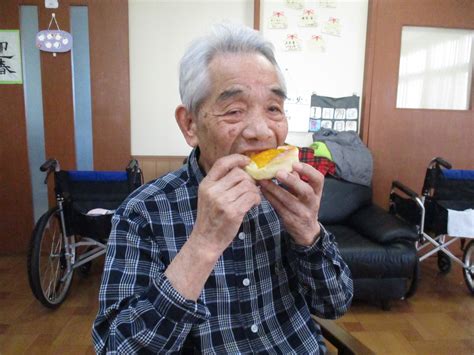
[[[17,1],[0,1],[0,28],[19,27]],[[33,200],[23,86],[0,85],[0,101],[0,254],[6,254],[26,249],[33,226]]]

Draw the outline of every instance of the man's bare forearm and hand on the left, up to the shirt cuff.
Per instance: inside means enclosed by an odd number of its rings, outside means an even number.
[[[188,300],[197,300],[245,214],[260,204],[255,181],[242,170],[249,162],[249,158],[239,154],[223,157],[199,185],[193,231],[165,270],[173,287]]]

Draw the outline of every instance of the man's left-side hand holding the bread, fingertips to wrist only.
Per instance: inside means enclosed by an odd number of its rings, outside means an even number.
[[[255,181],[242,169],[250,159],[232,154],[218,159],[199,185],[197,218],[191,238],[218,258],[237,234],[245,214],[260,204]]]

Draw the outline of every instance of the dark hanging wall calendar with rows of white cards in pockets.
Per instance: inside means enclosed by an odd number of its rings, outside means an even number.
[[[336,131],[358,131],[359,102],[356,95],[333,98],[311,96],[309,131],[331,128]]]

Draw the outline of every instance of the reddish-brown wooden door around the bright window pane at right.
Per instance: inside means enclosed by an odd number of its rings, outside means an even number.
[[[374,201],[387,207],[391,181],[420,192],[433,157],[474,169],[472,86],[468,110],[396,108],[403,26],[474,29],[474,2],[372,0],[368,21],[362,136],[374,156]]]

